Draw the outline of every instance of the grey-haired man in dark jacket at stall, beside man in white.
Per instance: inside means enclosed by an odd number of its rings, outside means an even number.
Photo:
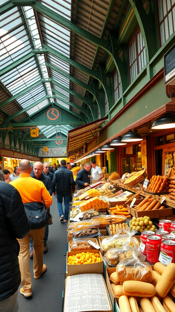
[[[90,163],[85,163],[84,168],[77,173],[76,183],[77,183],[77,190],[82,188],[86,188],[90,185],[90,178],[91,175],[91,165]]]

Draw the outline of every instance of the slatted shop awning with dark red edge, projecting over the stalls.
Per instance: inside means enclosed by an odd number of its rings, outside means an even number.
[[[76,129],[69,130],[67,141],[67,156],[70,157],[79,153],[79,150],[83,148],[83,145],[88,143],[94,138],[97,131],[102,128],[102,124],[108,117],[103,117],[89,124],[80,126]]]

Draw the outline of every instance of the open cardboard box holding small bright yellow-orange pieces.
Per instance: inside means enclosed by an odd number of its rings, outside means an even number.
[[[68,275],[85,274],[85,273],[103,273],[103,257],[102,257],[101,252],[97,249],[92,249],[88,251],[99,254],[101,262],[82,264],[80,266],[71,265],[71,264],[68,264],[68,257],[72,255],[76,255],[78,251],[68,251],[67,262],[66,262],[67,267],[68,267]],[[79,253],[81,252],[87,252],[87,250],[81,250]]]

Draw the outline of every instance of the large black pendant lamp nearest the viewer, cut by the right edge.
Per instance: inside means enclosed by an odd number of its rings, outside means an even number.
[[[175,115],[167,114],[154,121],[151,129],[170,129],[175,128]]]

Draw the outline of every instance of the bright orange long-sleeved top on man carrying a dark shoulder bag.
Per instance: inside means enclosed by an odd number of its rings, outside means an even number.
[[[36,179],[33,179],[29,173],[21,173],[19,178],[10,182],[20,193],[23,203],[43,202],[48,208],[52,204],[50,196],[45,185]]]

